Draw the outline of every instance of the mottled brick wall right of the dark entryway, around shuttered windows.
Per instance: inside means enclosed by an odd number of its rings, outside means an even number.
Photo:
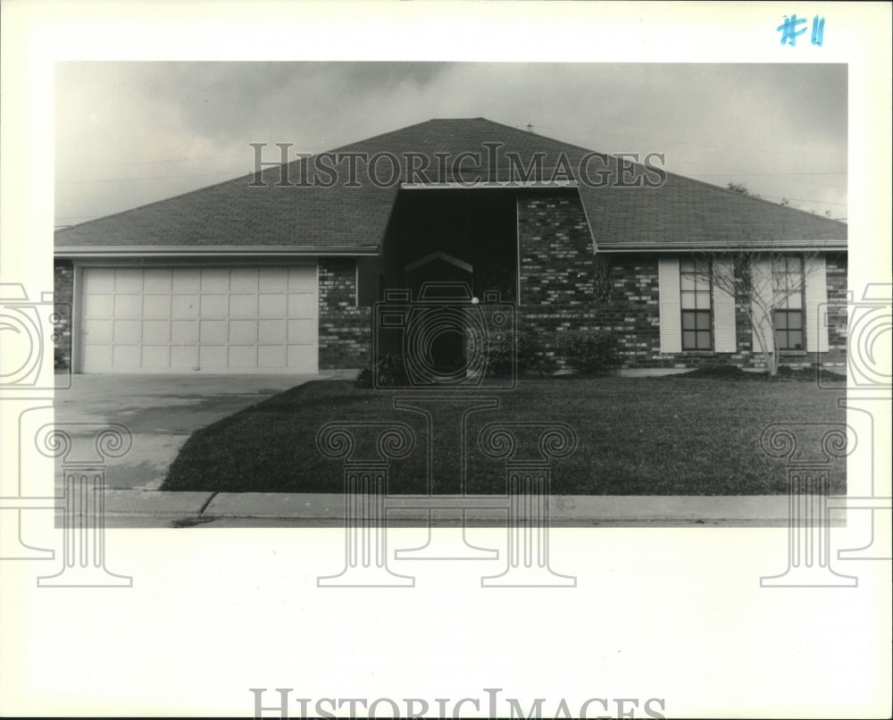
[[[736,302],[738,352],[661,353],[657,255],[592,255],[586,218],[577,197],[521,196],[518,200],[521,304],[518,327],[536,346],[532,365],[561,370],[559,333],[606,331],[617,339],[624,369],[692,368],[735,364],[761,368],[744,299]],[[846,298],[846,255],[827,258],[828,300]],[[836,322],[835,322],[836,321]],[[829,352],[822,364],[846,362],[846,314],[831,318]],[[814,353],[785,353],[781,364],[806,367]]]

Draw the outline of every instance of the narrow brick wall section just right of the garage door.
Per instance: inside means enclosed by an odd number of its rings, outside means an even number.
[[[354,258],[320,258],[320,370],[363,368],[371,356],[371,308],[356,306]]]

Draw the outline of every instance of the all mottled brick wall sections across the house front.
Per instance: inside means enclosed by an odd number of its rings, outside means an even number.
[[[617,339],[622,367],[682,368],[731,363],[760,368],[742,298],[736,303],[739,351],[734,354],[660,352],[657,255],[592,255],[586,218],[579,199],[568,194],[518,199],[521,305],[519,329],[536,345],[533,365],[547,370],[565,366],[558,351],[559,333],[609,331]],[[826,367],[846,365],[847,258],[827,258],[828,300],[839,304],[830,316]],[[57,324],[55,367],[71,369],[73,268],[54,263]],[[356,306],[353,258],[319,262],[319,367],[363,368],[371,356],[371,307]],[[809,366],[814,354],[784,355],[781,364]]]

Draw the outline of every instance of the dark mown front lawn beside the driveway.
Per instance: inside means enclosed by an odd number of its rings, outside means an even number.
[[[477,432],[498,420],[561,421],[579,447],[553,463],[552,492],[580,495],[758,495],[787,491],[782,462],[764,456],[761,431],[776,422],[843,422],[843,393],[814,382],[669,376],[521,381],[497,410],[469,419],[468,492],[505,492],[505,466],[480,453]],[[396,420],[421,448],[390,467],[388,492],[425,493],[426,431],[419,414],[395,410],[393,393],[348,381],[313,381],[196,431],[163,490],[342,492],[339,460],[321,455],[324,423]],[[437,422],[438,418],[435,418]],[[448,461],[460,448],[447,448]],[[846,491],[843,463],[831,492]],[[437,491],[449,491],[435,487]]]

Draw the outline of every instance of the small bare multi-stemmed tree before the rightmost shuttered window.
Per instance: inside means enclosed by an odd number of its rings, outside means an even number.
[[[805,284],[821,272],[814,262],[819,253],[769,248],[694,255],[711,286],[735,298],[750,321],[755,351],[769,374],[778,374],[781,350],[805,349]]]

